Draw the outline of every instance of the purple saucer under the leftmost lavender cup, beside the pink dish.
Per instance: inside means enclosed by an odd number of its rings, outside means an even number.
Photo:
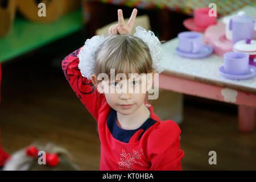
[[[187,58],[191,58],[191,59],[197,59],[197,58],[203,58],[203,57],[207,57],[212,53],[213,49],[210,46],[207,46],[205,44],[203,44],[201,46],[201,49],[198,53],[188,53],[188,52],[183,52],[179,50],[179,47],[176,47],[176,53],[179,56],[182,57],[187,57]]]

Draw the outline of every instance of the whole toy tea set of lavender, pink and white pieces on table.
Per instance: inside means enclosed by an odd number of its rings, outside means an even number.
[[[256,75],[256,24],[255,18],[240,11],[217,22],[216,16],[209,16],[210,9],[194,11],[194,18],[184,20],[188,30],[178,34],[179,56],[199,59],[212,52],[224,56],[224,65],[219,68],[222,77],[245,80]],[[204,40],[206,44],[202,44]]]

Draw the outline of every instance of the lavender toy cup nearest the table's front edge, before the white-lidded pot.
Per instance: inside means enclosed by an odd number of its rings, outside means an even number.
[[[249,69],[249,55],[243,52],[227,52],[224,54],[224,69],[231,75],[243,75]]]

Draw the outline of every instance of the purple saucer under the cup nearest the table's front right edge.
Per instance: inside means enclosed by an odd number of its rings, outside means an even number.
[[[248,72],[245,75],[231,75],[229,73],[226,73],[224,66],[220,67],[218,71],[220,72],[220,75],[222,77],[225,77],[231,80],[246,80],[249,78],[253,78],[256,75],[256,67],[252,65],[249,65]]]

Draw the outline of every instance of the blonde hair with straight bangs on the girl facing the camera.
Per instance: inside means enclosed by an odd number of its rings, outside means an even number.
[[[115,69],[115,75],[129,73],[139,75],[151,73],[152,58],[148,46],[134,35],[113,35],[107,38],[95,53],[95,75],[106,73],[110,76],[110,69]]]

